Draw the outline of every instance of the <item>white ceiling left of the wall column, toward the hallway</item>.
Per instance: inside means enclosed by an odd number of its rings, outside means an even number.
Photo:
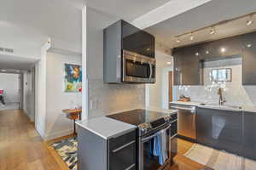
[[[0,41],[39,46],[48,37],[81,42],[84,0],[3,0]]]

